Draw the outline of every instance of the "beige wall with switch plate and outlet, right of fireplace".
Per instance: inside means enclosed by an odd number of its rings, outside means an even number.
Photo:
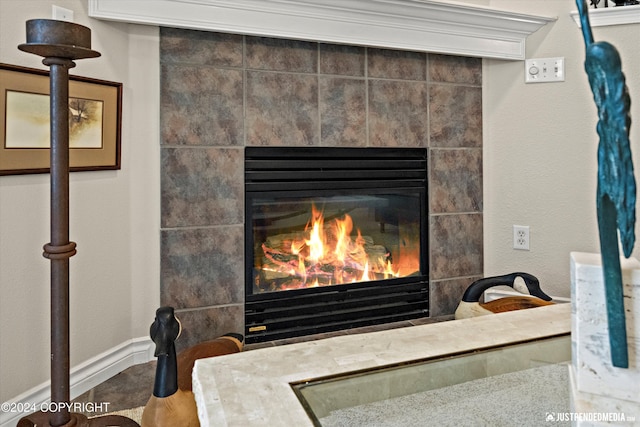
[[[485,61],[485,275],[527,271],[548,293],[569,296],[569,252],[599,252],[597,113],[583,68],[582,33],[569,16],[576,5],[573,0],[491,0],[490,5],[557,16],[529,37],[527,58],[565,57],[566,80],[524,84],[522,62]],[[640,24],[595,27],[594,37],[614,44],[622,57],[640,171]],[[531,227],[529,252],[512,249],[513,224]],[[634,256],[639,253],[636,249]]]

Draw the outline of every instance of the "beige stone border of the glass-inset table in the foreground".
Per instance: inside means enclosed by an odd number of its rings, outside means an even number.
[[[201,359],[193,371],[200,424],[313,426],[292,382],[571,331],[571,304],[344,335]]]

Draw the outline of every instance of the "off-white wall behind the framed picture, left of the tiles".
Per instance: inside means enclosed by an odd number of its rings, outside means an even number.
[[[122,82],[122,169],[71,175],[72,367],[148,335],[159,304],[158,30],[87,16],[86,0],[0,1],[0,62],[47,69],[17,49],[25,21],[74,11],[97,59],[70,73]],[[50,378],[49,176],[0,177],[0,401]]]

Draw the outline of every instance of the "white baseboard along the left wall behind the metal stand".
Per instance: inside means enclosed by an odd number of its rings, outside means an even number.
[[[71,399],[75,399],[133,365],[153,360],[154,348],[149,337],[133,338],[74,366],[71,368],[69,378]],[[17,404],[17,408],[25,405],[39,408],[41,404],[50,400],[51,381],[49,380],[14,397],[9,403]],[[14,427],[24,415],[26,414],[0,411],[0,427]]]

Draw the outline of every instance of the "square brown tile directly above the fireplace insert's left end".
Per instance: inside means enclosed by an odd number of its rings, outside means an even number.
[[[246,127],[247,145],[318,145],[318,77],[247,72]]]

